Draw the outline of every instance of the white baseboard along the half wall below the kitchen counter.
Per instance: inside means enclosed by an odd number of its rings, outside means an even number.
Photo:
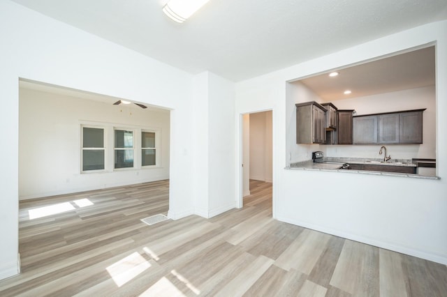
[[[290,224],[295,224],[300,227],[305,227],[307,229],[312,229],[316,231],[320,231],[326,234],[331,234],[335,236],[339,236],[342,238],[350,239],[351,241],[358,241],[360,243],[366,243],[367,245],[374,245],[378,248],[384,248],[386,250],[392,250],[394,252],[400,252],[402,254],[408,254],[413,257],[418,257],[421,259],[426,259],[429,261],[434,261],[440,264],[447,265],[447,254],[435,254],[431,252],[427,252],[424,250],[419,250],[418,248],[413,248],[405,245],[400,245],[397,243],[390,243],[386,241],[380,241],[374,238],[369,238],[367,236],[361,236],[358,234],[349,234],[344,231],[330,229],[327,227],[318,226],[315,224],[309,224],[307,222],[302,222],[300,220],[295,220],[292,218],[286,218],[282,215],[277,215],[277,220],[281,222],[287,222]]]

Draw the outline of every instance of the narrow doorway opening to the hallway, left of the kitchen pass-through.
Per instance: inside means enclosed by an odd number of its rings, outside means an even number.
[[[242,114],[241,207],[263,203],[272,210],[272,110]]]

